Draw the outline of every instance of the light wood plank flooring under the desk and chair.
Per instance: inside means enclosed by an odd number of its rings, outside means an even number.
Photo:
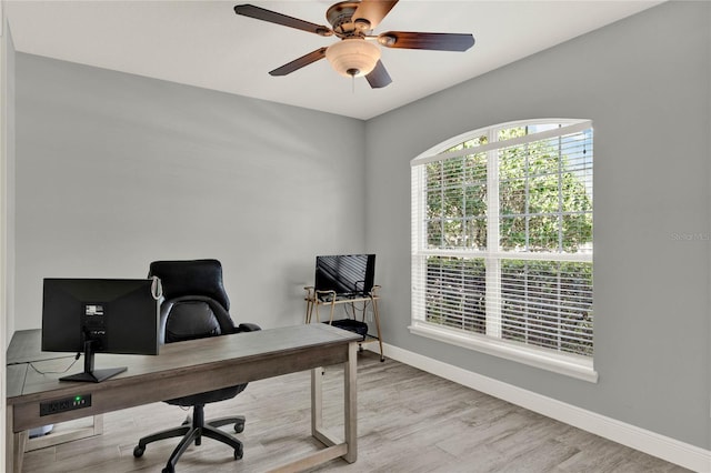
[[[359,354],[358,375],[358,462],[339,459],[318,472],[687,471],[405,364],[380,363],[371,352]],[[326,371],[324,399],[326,424],[342,425],[342,370]],[[237,435],[244,457],[234,461],[229,446],[203,439],[178,472],[263,472],[319,447],[310,437],[308,372],[250,383],[233,400],[206,407],[207,419],[230,414],[247,416]],[[178,439],[148,445],[141,459],[133,446],[186,415],[163,403],[106,414],[103,435],[28,452],[23,471],[160,472]],[[342,435],[342,426],[333,432]]]

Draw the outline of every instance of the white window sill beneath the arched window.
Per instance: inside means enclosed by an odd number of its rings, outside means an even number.
[[[598,382],[598,372],[594,371],[592,359],[577,355],[549,353],[547,350],[521,346],[502,340],[493,340],[483,335],[462,333],[457,330],[414,321],[409,326],[410,333],[427,336],[428,339],[450,343],[469,350],[487,353],[541,370],[552,371],[565,376]]]

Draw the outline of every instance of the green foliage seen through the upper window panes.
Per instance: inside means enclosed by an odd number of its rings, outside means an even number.
[[[503,130],[500,139],[524,133],[524,128]],[[448,151],[475,151],[485,143],[481,137]],[[559,150],[558,140],[501,150],[502,250],[575,252],[592,241],[592,200]],[[428,164],[427,220],[430,248],[487,249],[487,153]]]

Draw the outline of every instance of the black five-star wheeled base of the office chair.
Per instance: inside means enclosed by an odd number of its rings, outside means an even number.
[[[234,432],[240,433],[244,430],[244,417],[241,415],[233,417],[220,417],[209,422],[204,422],[204,405],[193,406],[193,419],[188,420],[183,425],[174,429],[168,429],[157,432],[152,435],[148,435],[139,440],[138,445],[133,449],[133,456],[137,459],[143,456],[146,445],[159,440],[182,437],[178,446],[173,450],[166,463],[166,467],[162,473],[173,473],[176,471],[176,464],[180,456],[188,450],[191,443],[196,445],[202,443],[202,437],[217,440],[227,445],[230,445],[234,450],[234,460],[240,460],[243,455],[242,442],[234,439],[232,435],[219,430],[222,425],[234,424]]]

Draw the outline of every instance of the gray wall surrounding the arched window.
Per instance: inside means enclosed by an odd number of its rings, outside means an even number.
[[[662,4],[370,120],[367,244],[385,341],[708,449],[710,30],[711,4]],[[594,125],[597,384],[408,331],[410,160],[557,117]]]

